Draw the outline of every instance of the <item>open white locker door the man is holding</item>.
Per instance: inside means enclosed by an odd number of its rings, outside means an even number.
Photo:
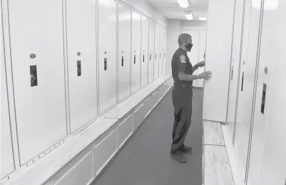
[[[205,70],[213,75],[204,83],[204,120],[226,122],[234,4],[234,0],[210,0],[208,4]]]

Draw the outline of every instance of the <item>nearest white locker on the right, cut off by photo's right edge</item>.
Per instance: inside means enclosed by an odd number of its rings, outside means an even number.
[[[285,94],[283,94],[283,92],[285,92],[285,83],[283,79],[285,78],[278,74],[282,72],[279,68],[285,69],[286,27],[285,23],[273,21],[286,16],[285,8],[285,0],[283,0],[273,1],[273,4],[267,4],[265,1],[262,15],[260,15],[260,8],[257,7],[257,9],[255,9],[255,7],[253,7],[251,9],[251,15],[255,16],[256,20],[261,16],[262,21],[260,23],[258,21],[257,23],[252,23],[251,20],[251,25],[255,25],[256,34],[254,32],[253,35],[250,33],[249,38],[249,41],[253,41],[251,36],[260,41],[260,48],[258,49],[259,57],[255,58],[255,56],[252,56],[253,54],[251,57],[247,56],[247,60],[257,59],[255,108],[252,114],[253,123],[248,184],[269,184],[270,182],[271,184],[285,183],[286,130],[283,129],[283,127],[285,128],[285,122],[283,122],[283,118],[285,120],[285,104],[283,104],[283,102],[285,102]],[[257,32],[259,26],[260,34]],[[252,44],[254,45],[255,42],[252,42]],[[255,49],[254,46],[248,47],[249,51],[253,48],[252,53],[257,51],[257,46]],[[255,65],[248,66],[247,61],[247,69],[253,67],[255,68]],[[274,71],[272,71],[273,68],[275,69]],[[249,76],[245,73],[245,90],[247,88],[248,78]],[[280,96],[280,98],[275,97],[275,95]],[[271,99],[270,96],[272,97]],[[271,100],[275,100],[277,103],[275,104],[275,102]],[[280,141],[278,138],[284,140]],[[270,149],[270,151],[268,149]],[[275,153],[275,155],[271,153]],[[263,162],[263,158],[266,160],[265,163]],[[263,166],[263,164],[265,166]],[[278,165],[274,166],[273,164]],[[267,168],[272,169],[272,175],[275,175],[276,178],[272,176],[271,178],[273,179],[271,179],[261,175],[262,169],[265,169],[265,174],[267,174],[269,170],[267,170]]]

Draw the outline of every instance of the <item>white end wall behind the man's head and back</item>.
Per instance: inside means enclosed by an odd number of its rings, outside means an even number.
[[[166,74],[172,74],[171,60],[174,52],[178,49],[178,36],[182,30],[204,30],[207,21],[182,21],[180,19],[168,19],[167,28],[167,54],[166,54]]]

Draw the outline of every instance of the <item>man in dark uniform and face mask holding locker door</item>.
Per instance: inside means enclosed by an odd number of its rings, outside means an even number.
[[[190,63],[187,52],[190,52],[193,43],[189,34],[181,34],[178,38],[178,43],[179,48],[175,51],[172,58],[172,75],[174,80],[172,99],[175,109],[175,121],[170,154],[175,161],[185,163],[187,159],[185,159],[183,153],[192,151],[191,147],[185,146],[184,141],[192,117],[193,80],[208,80],[211,73],[206,71],[200,75],[193,75],[193,72],[199,67],[203,67],[205,62],[197,63],[194,66]]]

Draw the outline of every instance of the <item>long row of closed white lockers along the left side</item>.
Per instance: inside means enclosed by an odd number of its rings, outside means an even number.
[[[2,7],[1,179],[165,72],[165,28],[118,1]]]

